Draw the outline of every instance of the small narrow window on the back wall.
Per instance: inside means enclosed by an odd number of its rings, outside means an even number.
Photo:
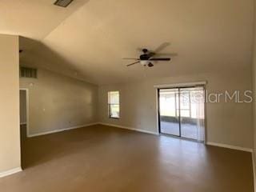
[[[108,106],[110,118],[119,118],[119,91],[108,92]]]

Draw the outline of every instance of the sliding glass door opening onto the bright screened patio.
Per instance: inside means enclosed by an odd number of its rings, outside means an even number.
[[[205,142],[204,86],[158,89],[160,134]]]

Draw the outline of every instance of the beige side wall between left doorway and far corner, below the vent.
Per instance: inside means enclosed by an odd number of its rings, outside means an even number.
[[[38,69],[38,78],[20,78],[29,89],[29,133],[40,134],[97,122],[98,86]]]

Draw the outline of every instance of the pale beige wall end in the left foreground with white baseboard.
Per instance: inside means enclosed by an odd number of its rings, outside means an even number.
[[[18,36],[0,35],[0,174],[20,167]]]

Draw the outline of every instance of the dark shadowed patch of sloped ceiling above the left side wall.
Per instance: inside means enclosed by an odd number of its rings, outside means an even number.
[[[22,66],[38,67],[46,70],[89,82],[88,74],[79,74],[74,63],[68,61],[44,43],[31,38],[19,37],[20,64]]]

